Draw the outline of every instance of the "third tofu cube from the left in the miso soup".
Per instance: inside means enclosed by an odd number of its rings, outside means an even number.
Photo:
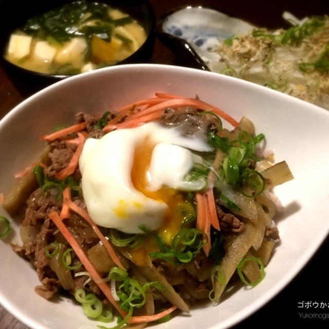
[[[58,64],[67,64],[81,60],[87,49],[87,43],[83,38],[74,38],[60,48],[54,58]]]

